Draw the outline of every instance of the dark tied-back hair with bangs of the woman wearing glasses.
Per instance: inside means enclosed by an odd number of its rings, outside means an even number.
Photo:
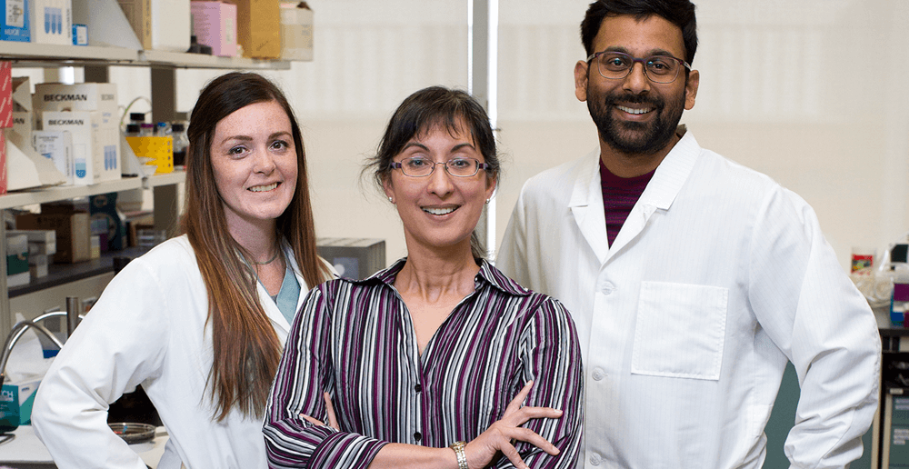
[[[466,128],[461,128],[461,125]],[[364,172],[371,172],[375,184],[382,187],[391,174],[395,156],[404,150],[407,142],[415,135],[422,135],[436,127],[444,128],[453,135],[469,132],[474,145],[483,155],[486,177],[498,180],[500,163],[489,115],[473,96],[445,86],[429,86],[405,98],[388,121],[378,150],[366,162]],[[485,257],[483,243],[475,229],[470,236],[470,247],[474,259]]]

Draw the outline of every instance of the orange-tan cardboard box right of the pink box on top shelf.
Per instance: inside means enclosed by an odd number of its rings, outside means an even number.
[[[229,0],[236,5],[237,43],[243,56],[281,58],[281,5],[279,0]]]

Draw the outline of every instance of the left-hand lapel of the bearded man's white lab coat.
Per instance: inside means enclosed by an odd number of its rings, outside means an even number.
[[[574,189],[568,208],[574,215],[581,234],[596,254],[600,264],[606,262],[609,255],[609,243],[606,238],[606,217],[603,213],[603,191],[600,188],[600,150],[597,148],[579,165],[579,173],[574,179]]]

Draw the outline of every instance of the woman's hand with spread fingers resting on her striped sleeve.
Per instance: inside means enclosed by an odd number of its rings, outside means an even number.
[[[559,418],[562,416],[561,410],[551,407],[521,406],[524,404],[527,394],[530,394],[530,388],[533,385],[533,381],[524,384],[521,392],[514,396],[514,399],[505,408],[502,418],[489,425],[485,432],[464,447],[469,467],[472,469],[485,467],[492,462],[495,454],[501,451],[515,467],[529,469],[527,464],[524,464],[521,454],[514,448],[514,440],[534,444],[548,454],[559,454],[559,449],[554,444],[549,443],[534,431],[521,426],[533,418]]]

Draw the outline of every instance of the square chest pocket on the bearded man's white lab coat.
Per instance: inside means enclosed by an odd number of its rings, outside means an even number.
[[[631,372],[720,379],[728,296],[719,286],[642,282]]]

